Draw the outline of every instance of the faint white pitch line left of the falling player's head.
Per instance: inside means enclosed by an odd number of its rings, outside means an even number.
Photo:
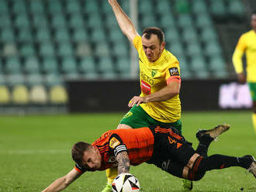
[[[24,150],[7,150],[7,151],[0,151],[0,154],[7,154],[7,155],[29,155],[29,154],[68,154],[71,153],[71,150],[67,149],[24,149]]]

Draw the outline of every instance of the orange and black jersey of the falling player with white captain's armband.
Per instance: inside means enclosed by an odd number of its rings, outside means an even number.
[[[128,153],[130,164],[137,166],[150,160],[154,149],[154,135],[146,127],[110,130],[96,139],[92,146],[96,146],[102,156],[102,164],[99,170],[116,167],[116,156],[124,151]],[[86,171],[78,165],[75,169],[79,172]]]

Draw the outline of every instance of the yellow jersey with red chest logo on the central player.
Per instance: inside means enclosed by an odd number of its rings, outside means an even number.
[[[180,67],[177,58],[168,50],[161,53],[161,57],[154,63],[147,60],[144,53],[141,36],[133,39],[133,46],[137,49],[140,63],[140,97],[160,91],[168,82],[180,79]],[[177,122],[181,118],[181,101],[179,95],[167,101],[148,102],[140,104],[150,117],[159,122]]]

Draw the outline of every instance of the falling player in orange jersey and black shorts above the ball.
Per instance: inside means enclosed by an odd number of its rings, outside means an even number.
[[[50,184],[43,192],[64,190],[85,172],[117,167],[118,173],[129,173],[130,165],[153,163],[175,177],[201,180],[208,170],[220,170],[230,166],[247,169],[256,178],[256,161],[253,156],[242,157],[212,155],[205,153],[218,135],[227,131],[229,125],[218,125],[208,131],[196,133],[199,146],[192,143],[174,127],[150,126],[140,129],[116,129],[102,134],[95,142],[77,142],[71,154],[76,163],[74,169]]]

